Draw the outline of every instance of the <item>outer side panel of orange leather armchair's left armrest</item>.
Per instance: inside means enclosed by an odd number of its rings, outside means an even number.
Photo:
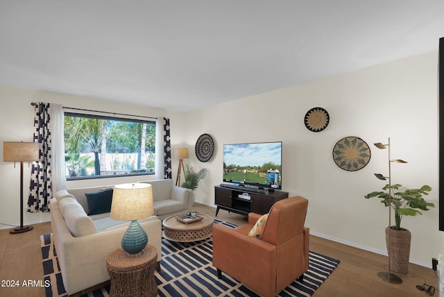
[[[213,226],[213,266],[247,287],[269,291],[275,286],[277,254],[276,246],[266,241],[219,224]]]

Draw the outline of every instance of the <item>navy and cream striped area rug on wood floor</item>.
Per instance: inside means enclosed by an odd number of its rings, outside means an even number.
[[[215,223],[235,227],[217,219]],[[51,287],[46,288],[46,296],[67,296],[51,235],[42,235],[41,241],[44,280],[51,283]],[[310,251],[309,270],[305,272],[303,282],[295,280],[279,296],[311,296],[338,264],[339,260]],[[217,278],[216,269],[212,266],[211,238],[186,247],[162,239],[160,265],[162,271],[155,272],[159,296],[257,296],[225,273],[221,280]],[[107,286],[85,296],[108,296],[109,292],[110,287]]]

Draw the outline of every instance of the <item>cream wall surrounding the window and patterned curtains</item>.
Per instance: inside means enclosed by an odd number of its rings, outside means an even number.
[[[70,108],[85,108],[89,110],[101,110],[106,112],[119,112],[135,114],[147,117],[169,117],[166,110],[156,108],[144,108],[141,106],[114,103],[80,96],[70,96],[54,92],[24,90],[17,87],[0,85],[0,154],[3,155],[3,142],[6,141],[33,141],[34,107],[31,102],[61,103]],[[176,127],[173,127],[176,128]],[[49,221],[48,212],[26,212],[28,201],[29,182],[31,168],[24,164],[24,223],[38,223]],[[146,179],[154,178],[147,176]],[[96,180],[79,180],[67,183],[67,187],[83,187],[93,185],[108,185],[117,183],[130,183],[140,180],[137,178],[105,178]],[[20,223],[20,166],[14,163],[0,162],[0,228],[9,228],[8,225]],[[8,224],[8,225],[2,225]]]

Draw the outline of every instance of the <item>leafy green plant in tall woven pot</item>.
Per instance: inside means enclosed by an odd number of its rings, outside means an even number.
[[[403,192],[395,192],[402,185],[385,185],[384,191],[371,192],[364,196],[369,198],[380,198],[381,203],[386,207],[390,206],[395,212],[395,226],[386,228],[386,245],[387,250],[390,246],[391,259],[390,264],[393,272],[406,275],[409,271],[409,256],[411,233],[409,230],[401,227],[402,217],[417,216],[422,214],[421,210],[427,211],[429,207],[435,207],[433,203],[429,203],[422,198],[422,195],[428,195],[432,191],[432,187],[423,185],[420,189],[405,189]],[[387,192],[388,191],[388,192]],[[391,244],[388,244],[388,232],[390,232]],[[391,271],[389,271],[391,273]]]

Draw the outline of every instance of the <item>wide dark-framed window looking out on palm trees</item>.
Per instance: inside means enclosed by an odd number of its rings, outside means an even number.
[[[65,112],[67,180],[155,173],[155,121]]]

